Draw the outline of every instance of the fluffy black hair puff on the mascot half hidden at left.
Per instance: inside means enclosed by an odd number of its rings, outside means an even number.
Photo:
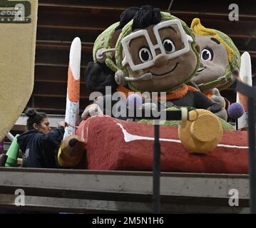
[[[116,90],[118,84],[115,81],[115,73],[105,63],[88,63],[85,72],[86,86],[91,92],[98,91],[106,93],[106,86]]]

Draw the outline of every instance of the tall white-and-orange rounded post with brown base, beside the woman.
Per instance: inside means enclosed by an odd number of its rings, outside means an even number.
[[[80,38],[77,37],[71,44],[69,56],[65,115],[65,121],[69,126],[65,128],[63,141],[58,150],[58,164],[61,165],[61,167],[75,167],[80,162],[84,152],[83,140],[76,135],[76,126],[79,120],[80,68],[81,41]]]

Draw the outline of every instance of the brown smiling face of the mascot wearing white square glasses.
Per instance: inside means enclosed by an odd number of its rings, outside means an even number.
[[[182,85],[197,66],[192,41],[178,20],[160,21],[130,33],[122,42],[123,66],[130,78],[152,75],[130,83],[140,91],[165,91]]]

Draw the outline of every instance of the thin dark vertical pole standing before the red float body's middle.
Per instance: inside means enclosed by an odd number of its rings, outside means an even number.
[[[155,120],[155,141],[153,150],[153,213],[160,213],[160,123]]]

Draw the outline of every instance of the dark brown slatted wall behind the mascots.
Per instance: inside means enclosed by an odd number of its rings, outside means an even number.
[[[248,51],[252,58],[252,73],[256,73],[256,1],[180,1],[174,0],[170,13],[183,19],[188,26],[195,17],[208,28],[215,28],[232,38],[240,53]],[[239,21],[229,21],[228,6],[239,6]],[[64,114],[68,57],[71,41],[82,41],[81,111],[88,104],[89,91],[84,71],[92,61],[93,41],[108,26],[119,21],[122,11],[130,6],[149,4],[167,11],[170,1],[130,0],[39,0],[39,20],[36,41],[34,92],[27,107],[48,114]],[[234,86],[222,92],[235,101]]]

